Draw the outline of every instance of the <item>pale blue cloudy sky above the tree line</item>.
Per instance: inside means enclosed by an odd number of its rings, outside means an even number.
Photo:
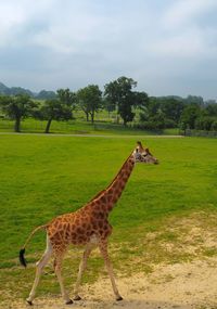
[[[217,99],[217,0],[0,0],[0,81]]]

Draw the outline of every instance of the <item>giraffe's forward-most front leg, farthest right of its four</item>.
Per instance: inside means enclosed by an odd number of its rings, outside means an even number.
[[[104,259],[104,262],[105,262],[105,266],[107,269],[107,273],[108,273],[110,279],[111,279],[111,283],[112,283],[113,292],[115,294],[115,298],[116,298],[116,300],[123,300],[123,297],[119,295],[119,292],[117,289],[117,285],[115,283],[115,276],[114,276],[114,272],[113,272],[112,262],[110,261],[110,257],[107,254],[107,242],[101,241],[99,243],[99,247],[100,247],[100,252],[102,254],[102,257]]]

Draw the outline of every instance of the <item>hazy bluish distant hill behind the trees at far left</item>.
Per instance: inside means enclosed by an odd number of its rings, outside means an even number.
[[[55,98],[54,91],[41,90],[39,93],[22,88],[22,87],[7,87],[3,82],[0,82],[0,94],[16,95],[16,94],[28,94],[34,99],[48,100]]]

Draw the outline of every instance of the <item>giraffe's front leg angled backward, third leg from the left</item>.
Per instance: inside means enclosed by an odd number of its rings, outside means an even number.
[[[82,259],[81,259],[80,265],[79,265],[77,282],[76,282],[76,285],[75,285],[75,297],[74,297],[74,300],[80,300],[81,299],[79,294],[78,294],[79,287],[80,287],[80,282],[81,282],[82,274],[84,274],[84,272],[86,270],[86,267],[87,267],[88,257],[90,256],[90,253],[91,253],[91,250],[94,247],[95,247],[94,244],[88,243],[87,246],[86,246],[86,249],[85,249],[85,252],[82,254]]]

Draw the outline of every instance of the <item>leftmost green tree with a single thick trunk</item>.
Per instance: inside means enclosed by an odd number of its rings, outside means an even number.
[[[17,94],[15,96],[0,96],[1,111],[8,117],[15,120],[14,131],[21,131],[21,120],[31,114],[31,110],[37,103],[30,100],[28,94]]]

